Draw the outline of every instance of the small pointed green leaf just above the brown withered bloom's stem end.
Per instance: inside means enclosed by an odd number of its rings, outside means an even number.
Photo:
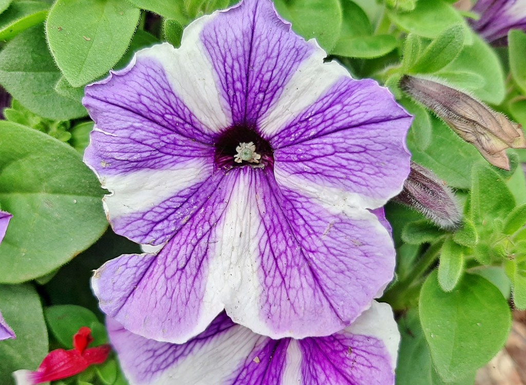
[[[460,54],[463,45],[464,26],[453,25],[431,42],[410,70],[424,74],[436,72],[451,63]]]

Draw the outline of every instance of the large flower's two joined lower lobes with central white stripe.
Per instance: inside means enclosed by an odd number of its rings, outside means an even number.
[[[237,168],[157,255],[106,262],[92,285],[130,331],[185,342],[222,310],[272,338],[348,326],[392,279],[392,241],[352,215],[279,188],[270,168]]]

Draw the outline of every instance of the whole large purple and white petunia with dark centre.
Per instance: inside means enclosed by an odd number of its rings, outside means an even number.
[[[402,189],[412,118],[325,57],[269,0],[245,0],[86,87],[84,161],[111,192],[108,219],[164,245],[95,272],[107,315],[175,343],[223,309],[303,338],[346,328],[381,293],[395,252],[369,210]]]

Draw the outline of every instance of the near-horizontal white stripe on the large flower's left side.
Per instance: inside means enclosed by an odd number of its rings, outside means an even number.
[[[213,171],[206,158],[194,158],[167,170],[139,170],[133,173],[100,176],[103,188],[112,188],[103,199],[112,219],[150,210],[185,188],[205,181]]]

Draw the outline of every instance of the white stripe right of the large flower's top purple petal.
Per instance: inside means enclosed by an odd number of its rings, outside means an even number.
[[[342,76],[350,77],[347,69],[338,63],[323,63],[327,54],[316,40],[309,40],[307,43],[317,47],[315,53],[301,64],[285,85],[274,108],[261,117],[259,128],[262,136],[267,139],[316,102]]]

